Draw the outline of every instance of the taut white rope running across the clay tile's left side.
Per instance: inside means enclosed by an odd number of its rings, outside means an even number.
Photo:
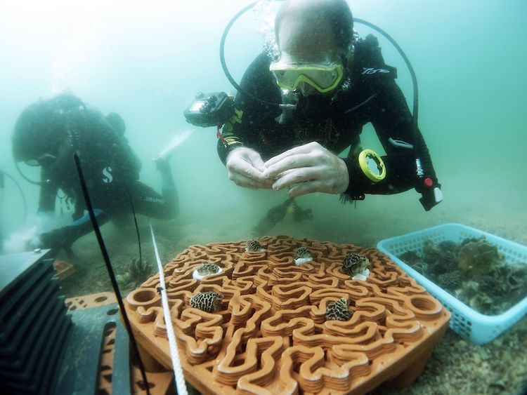
[[[178,346],[176,344],[176,337],[174,336],[174,326],[172,326],[172,319],[170,316],[169,300],[167,298],[167,290],[164,286],[163,266],[161,265],[160,253],[157,251],[157,244],[155,243],[154,229],[150,224],[150,233],[152,234],[152,242],[154,243],[155,259],[157,260],[157,270],[160,272],[160,293],[163,304],[164,324],[167,327],[167,335],[169,337],[170,357],[172,359],[172,369],[174,370],[174,380],[176,381],[176,388],[178,395],[188,395],[185,384],[185,377],[183,377],[183,370],[181,369],[181,361],[179,361]]]

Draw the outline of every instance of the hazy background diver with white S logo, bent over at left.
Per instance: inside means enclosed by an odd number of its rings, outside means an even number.
[[[171,219],[178,215],[178,194],[169,165],[170,150],[155,158],[162,193],[139,181],[141,161],[124,137],[126,126],[119,114],[104,116],[69,93],[39,100],[26,107],[13,130],[13,157],[23,178],[40,185],[39,213],[53,213],[57,196],[74,205],[72,224],[39,235],[32,247],[64,248],[93,230],[80,189],[73,154],[77,152],[98,225],[136,213]],[[19,162],[41,166],[34,182]],[[61,194],[59,195],[59,190]]]

